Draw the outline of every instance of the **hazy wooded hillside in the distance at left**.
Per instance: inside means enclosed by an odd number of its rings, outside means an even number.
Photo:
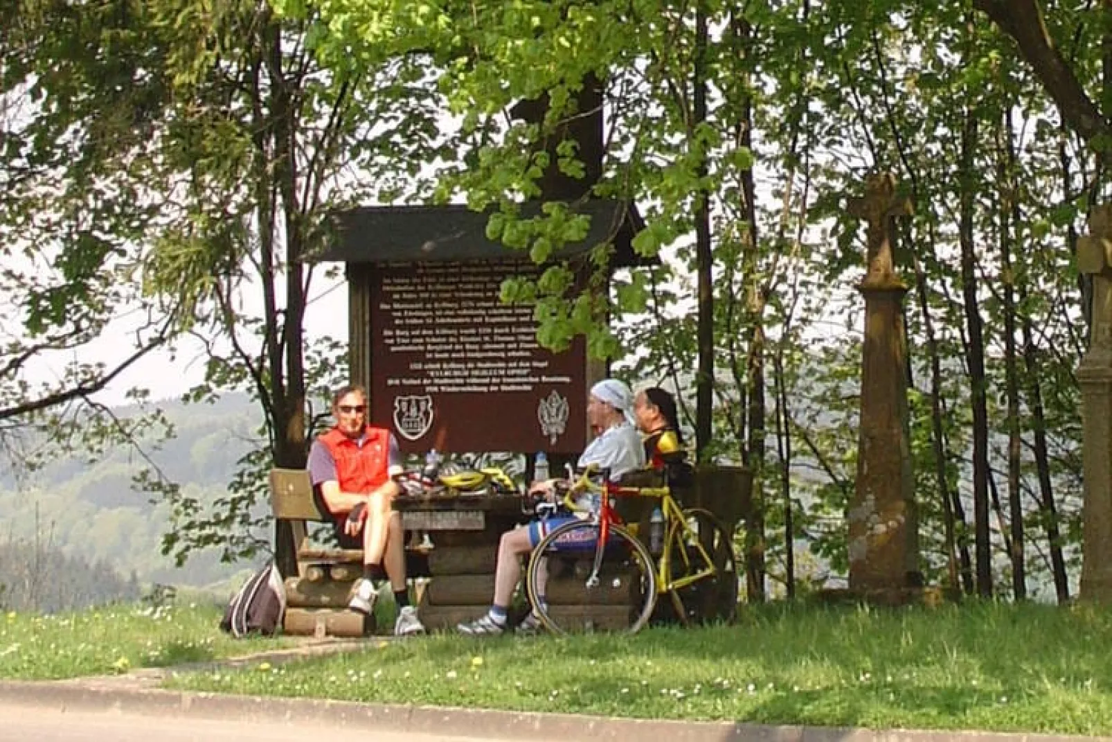
[[[205,499],[224,494],[237,459],[252,447],[259,415],[251,402],[230,395],[216,404],[166,400],[159,406],[176,436],[152,458],[169,478]],[[155,583],[221,588],[252,566],[221,564],[215,551],[193,555],[180,568],[163,556],[169,509],[131,484],[143,465],[136,452],[121,448],[92,464],[64,457],[27,475],[0,472],[0,584],[7,585],[8,605],[17,591],[33,588],[26,584],[34,582],[27,566],[32,557],[59,560],[57,566],[70,574],[85,565],[98,575],[90,573],[88,580],[132,592]]]

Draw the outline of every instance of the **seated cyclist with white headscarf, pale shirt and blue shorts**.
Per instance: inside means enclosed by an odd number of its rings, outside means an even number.
[[[645,465],[645,448],[634,426],[633,393],[623,382],[608,378],[590,387],[587,397],[587,423],[598,435],[579,456],[580,468],[592,464],[609,469],[614,481],[626,472]],[[552,491],[553,479],[535,482],[530,492]],[[498,563],[494,576],[494,601],[487,613],[470,623],[461,623],[456,629],[461,634],[487,636],[506,631],[509,601],[522,578],[522,557],[527,556],[550,531],[574,518],[553,516],[544,521],[532,521],[502,535],[498,544]],[[518,625],[518,633],[535,633],[540,619],[535,613]]]

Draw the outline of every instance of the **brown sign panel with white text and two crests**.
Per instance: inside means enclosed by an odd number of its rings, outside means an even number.
[[[504,279],[533,270],[505,260],[376,267],[371,421],[403,453],[583,451],[583,338],[545,350],[533,308],[498,299]]]

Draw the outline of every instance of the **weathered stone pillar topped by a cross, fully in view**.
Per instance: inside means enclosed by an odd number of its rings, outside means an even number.
[[[907,287],[892,259],[895,218],[911,214],[890,174],[870,176],[865,196],[850,201],[864,219],[867,269],[857,289],[865,297],[861,372],[857,485],[848,511],[850,590],[902,591],[921,585],[907,419],[907,340],[903,297]]]

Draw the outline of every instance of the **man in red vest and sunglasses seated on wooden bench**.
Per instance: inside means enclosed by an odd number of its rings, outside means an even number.
[[[371,615],[378,588],[389,577],[399,636],[425,631],[406,587],[405,531],[393,508],[401,487],[401,454],[394,434],[367,424],[367,392],[346,386],[332,396],[336,425],[309,449],[309,478],[328,512],[336,518],[340,548],[363,550],[363,578],[356,582],[348,607]],[[383,566],[386,566],[384,572]]]

